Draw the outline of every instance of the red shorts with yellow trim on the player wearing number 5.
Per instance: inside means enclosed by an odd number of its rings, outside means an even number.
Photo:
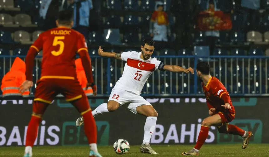
[[[34,101],[49,104],[58,94],[62,94],[68,102],[86,97],[76,79],[42,79],[37,82]]]

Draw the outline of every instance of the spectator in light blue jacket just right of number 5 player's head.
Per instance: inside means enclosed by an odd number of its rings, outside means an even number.
[[[90,10],[93,9],[92,0],[71,0],[74,6],[73,29],[79,31],[87,40],[89,34]]]

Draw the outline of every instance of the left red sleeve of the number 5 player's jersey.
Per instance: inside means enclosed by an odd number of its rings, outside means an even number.
[[[26,80],[32,81],[33,80],[33,67],[34,67],[34,59],[38,52],[43,48],[43,41],[42,41],[43,33],[41,33],[37,40],[34,41],[33,45],[30,46],[28,53],[25,58],[25,65],[26,65]]]

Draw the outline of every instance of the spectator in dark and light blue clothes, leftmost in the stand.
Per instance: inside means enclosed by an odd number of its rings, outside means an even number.
[[[39,10],[39,16],[43,18],[44,25],[43,30],[49,30],[56,27],[56,20],[58,17],[58,10],[61,6],[59,0],[40,0],[41,6]]]

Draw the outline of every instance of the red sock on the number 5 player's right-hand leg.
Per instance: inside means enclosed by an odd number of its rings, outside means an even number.
[[[97,142],[97,130],[94,117],[91,111],[84,113],[84,131],[85,135],[89,141],[89,144]]]

